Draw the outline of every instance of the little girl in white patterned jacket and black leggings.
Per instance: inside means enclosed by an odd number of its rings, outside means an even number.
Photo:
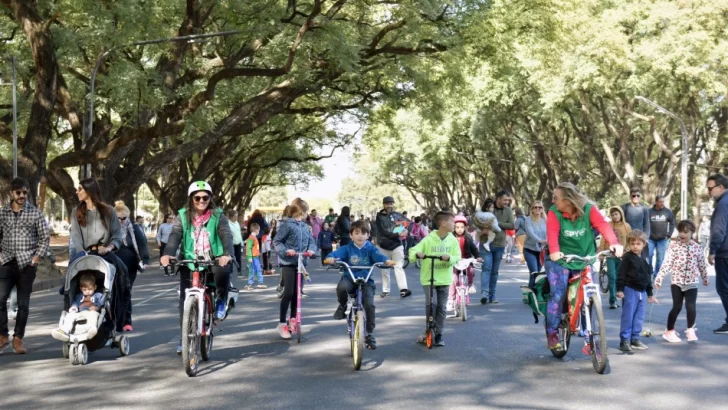
[[[662,334],[662,338],[670,343],[682,341],[675,331],[675,322],[682,310],[683,301],[685,301],[688,318],[685,337],[688,342],[698,340],[698,336],[695,334],[695,302],[698,299],[698,280],[703,279],[703,286],[708,286],[709,283],[703,247],[692,240],[695,230],[695,224],[692,221],[683,220],[677,224],[678,239],[670,243],[667,248],[660,273],[655,278],[655,289],[659,289],[665,275],[670,275],[672,310],[667,315],[667,329]]]

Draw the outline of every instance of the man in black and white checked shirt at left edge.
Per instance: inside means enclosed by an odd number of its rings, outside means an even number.
[[[7,300],[13,287],[18,292],[18,315],[13,333],[13,350],[28,353],[23,346],[28,323],[30,293],[40,258],[48,253],[50,233],[43,214],[28,203],[28,181],[10,183],[12,202],[0,208],[0,352],[10,344]]]

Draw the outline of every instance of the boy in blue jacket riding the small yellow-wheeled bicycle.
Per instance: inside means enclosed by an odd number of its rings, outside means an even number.
[[[379,252],[374,245],[367,241],[369,237],[369,225],[362,220],[351,224],[351,240],[347,245],[342,246],[336,251],[330,253],[326,259],[327,264],[334,263],[335,260],[346,262],[352,266],[371,266],[377,262],[384,262],[387,266],[394,266],[394,261],[388,259],[383,253]],[[356,278],[365,278],[367,271],[363,269],[352,269],[352,273]],[[374,338],[375,327],[375,309],[374,294],[377,286],[374,279],[370,276],[367,286],[364,287],[362,295],[362,303],[367,314],[367,337],[364,341],[368,349],[377,348],[377,341]],[[334,312],[334,319],[341,320],[346,318],[346,303],[349,295],[356,291],[356,284],[351,280],[348,274],[343,274],[339,284],[336,286],[336,296],[339,300],[339,307]]]

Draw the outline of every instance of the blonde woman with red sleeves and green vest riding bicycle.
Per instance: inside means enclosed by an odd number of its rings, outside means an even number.
[[[547,272],[551,294],[546,312],[546,339],[552,350],[561,347],[557,329],[569,278],[578,276],[586,265],[583,261],[566,262],[563,260],[564,255],[596,255],[594,228],[606,238],[612,253],[616,257],[622,256],[622,245],[609,223],[597,206],[576,186],[568,182],[560,183],[554,189],[553,202],[546,220],[550,258],[553,261]]]

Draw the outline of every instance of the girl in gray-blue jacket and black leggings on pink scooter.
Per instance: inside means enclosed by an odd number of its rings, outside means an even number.
[[[288,306],[291,307],[291,317],[295,317],[298,302],[298,289],[296,289],[298,257],[296,253],[316,253],[316,241],[311,235],[308,224],[304,222],[307,213],[308,204],[306,201],[301,198],[294,199],[288,209],[287,216],[289,218],[281,220],[276,236],[273,238],[273,246],[278,255],[281,279],[283,280],[280,317],[276,330],[284,339],[291,338],[291,332],[286,323]]]

